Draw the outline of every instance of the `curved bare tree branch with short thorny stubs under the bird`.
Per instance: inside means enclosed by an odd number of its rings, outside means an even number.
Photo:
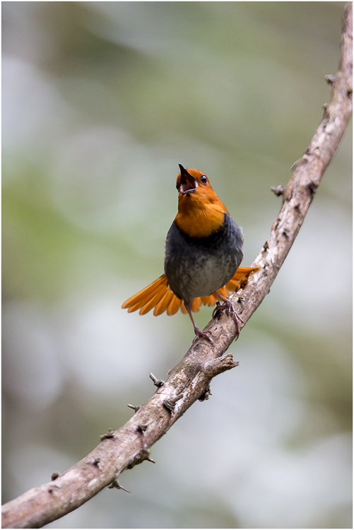
[[[331,84],[331,101],[324,117],[285,189],[278,187],[283,204],[254,265],[259,271],[247,285],[232,295],[244,324],[269,293],[285,257],[312,203],[321,177],[344,134],[352,112],[352,4],[346,4],[341,39],[341,61],[336,76],[326,76]],[[243,325],[244,325],[243,324]],[[75,510],[107,485],[121,488],[118,477],[143,460],[152,461],[149,448],[197,399],[208,399],[209,384],[216,375],[237,366],[232,355],[223,355],[235,339],[235,322],[224,315],[206,329],[215,346],[203,339],[189,348],[184,358],[170,370],[167,381],[151,375],[158,389],[146,404],[136,407],[134,416],[120,429],[101,436],[98,447],[65,473],[33,488],[3,506],[3,528],[40,528]],[[134,408],[134,406],[131,406]]]

